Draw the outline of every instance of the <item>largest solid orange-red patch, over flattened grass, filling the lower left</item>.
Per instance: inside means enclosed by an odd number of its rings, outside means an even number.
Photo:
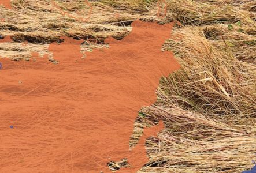
[[[58,64],[41,58],[1,59],[0,172],[111,172],[109,161],[128,159],[136,172],[146,164],[145,141],[164,123],[144,129],[129,151],[142,106],[153,104],[159,78],[180,65],[161,51],[172,24],[135,21],[123,40],[81,59],[81,40],[52,43]],[[10,128],[13,126],[13,129]]]

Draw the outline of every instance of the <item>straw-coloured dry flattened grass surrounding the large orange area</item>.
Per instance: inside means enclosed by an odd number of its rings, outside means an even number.
[[[82,1],[57,1],[62,9],[84,17]],[[159,22],[177,20],[181,26],[163,46],[173,51],[181,70],[162,78],[158,101],[142,108],[131,146],[143,125],[164,119],[166,129],[147,141],[150,157],[139,172],[242,172],[256,159],[256,1],[172,0],[165,18],[157,17],[155,1],[92,1],[87,22],[61,16],[50,1],[13,1],[15,10],[1,7],[1,35],[15,43],[0,44],[0,54],[29,58],[31,51],[47,53],[50,42],[69,35],[92,38],[83,51],[101,47],[107,36],[121,39],[136,18]],[[119,13],[120,18],[115,14]],[[179,38],[179,40],[177,40]],[[27,47],[21,42],[28,40]]]

